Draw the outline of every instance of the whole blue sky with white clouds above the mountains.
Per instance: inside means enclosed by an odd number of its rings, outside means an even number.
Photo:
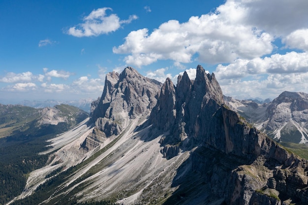
[[[308,92],[307,0],[0,0],[0,99],[101,95],[132,66],[163,82],[201,64],[223,93]]]

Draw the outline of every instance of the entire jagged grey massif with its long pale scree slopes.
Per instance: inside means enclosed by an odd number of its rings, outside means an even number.
[[[51,140],[11,204],[308,204],[308,161],[231,110],[214,74],[198,65],[176,85],[108,73],[91,118]]]

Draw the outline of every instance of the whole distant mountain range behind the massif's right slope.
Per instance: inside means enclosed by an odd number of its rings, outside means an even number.
[[[246,117],[261,131],[281,142],[308,142],[308,94],[282,92],[270,103],[225,97],[230,107]]]

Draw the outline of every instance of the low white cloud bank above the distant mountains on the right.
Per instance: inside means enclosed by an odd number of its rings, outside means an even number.
[[[225,95],[276,98],[281,92],[308,90],[308,54],[289,52],[251,60],[237,59],[216,67]]]

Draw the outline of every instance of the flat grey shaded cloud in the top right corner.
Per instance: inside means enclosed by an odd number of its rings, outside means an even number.
[[[244,22],[276,36],[308,27],[307,0],[227,0],[246,9]]]

